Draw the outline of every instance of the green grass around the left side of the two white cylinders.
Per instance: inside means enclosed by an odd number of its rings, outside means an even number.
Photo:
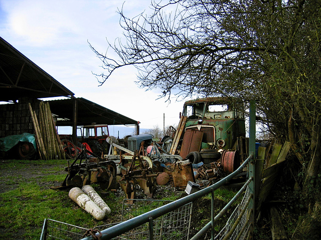
[[[106,224],[108,218],[104,221],[93,219],[68,197],[68,190],[49,188],[51,182],[63,182],[65,179],[66,173],[56,172],[61,172],[66,166],[66,160],[11,160],[8,164],[1,164],[0,169],[15,167],[16,170],[25,170],[26,165],[48,166],[48,170],[37,170],[28,179],[23,174],[0,178],[6,184],[18,184],[13,190],[0,193],[0,229],[3,239],[10,239],[13,235],[19,236],[16,239],[39,239],[45,218],[86,228]],[[112,195],[111,192],[108,194],[106,203],[111,208],[119,207]]]

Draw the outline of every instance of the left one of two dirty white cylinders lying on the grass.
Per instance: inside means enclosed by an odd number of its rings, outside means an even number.
[[[90,197],[87,196],[79,187],[71,188],[69,191],[69,197],[97,220],[104,219],[105,211],[90,199]]]

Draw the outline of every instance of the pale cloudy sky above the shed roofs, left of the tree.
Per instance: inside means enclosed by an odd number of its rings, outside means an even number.
[[[0,36],[76,97],[140,121],[141,129],[163,129],[164,113],[166,126],[178,125],[184,101],[173,98],[169,103],[157,99],[158,89],[139,88],[131,66],[118,69],[98,86],[93,72],[99,74],[103,68],[88,44],[104,54],[106,39],[123,39],[117,9],[123,7],[125,15],[133,17],[148,13],[149,6],[150,0],[0,0]]]

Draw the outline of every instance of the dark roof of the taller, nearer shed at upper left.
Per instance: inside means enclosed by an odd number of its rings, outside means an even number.
[[[74,93],[0,37],[0,101]]]

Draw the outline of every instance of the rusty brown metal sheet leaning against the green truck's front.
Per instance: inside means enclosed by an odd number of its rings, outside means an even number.
[[[199,151],[202,144],[202,138],[203,131],[187,129],[184,133],[180,156],[186,158],[190,152]]]

